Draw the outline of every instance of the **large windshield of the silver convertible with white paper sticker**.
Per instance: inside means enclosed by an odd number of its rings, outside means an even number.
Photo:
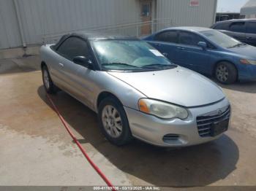
[[[162,70],[175,65],[146,42],[136,40],[92,41],[102,69],[105,70]]]

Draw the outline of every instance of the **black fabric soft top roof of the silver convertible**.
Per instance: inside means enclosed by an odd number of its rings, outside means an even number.
[[[71,33],[71,34],[65,34],[61,37],[59,42],[57,42],[54,45],[54,48],[59,47],[59,45],[64,42],[67,38],[70,36],[77,36],[84,40],[140,40],[136,38],[135,36],[127,36],[127,35],[121,35],[121,34],[101,34],[98,32],[78,32],[78,33]]]

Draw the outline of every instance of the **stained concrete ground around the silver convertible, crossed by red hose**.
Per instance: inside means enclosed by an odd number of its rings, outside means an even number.
[[[0,185],[105,185],[53,111],[39,58],[0,61]],[[52,95],[75,136],[114,185],[256,184],[256,83],[222,85],[233,114],[217,141],[184,149],[135,140],[116,147],[97,115],[67,93]]]

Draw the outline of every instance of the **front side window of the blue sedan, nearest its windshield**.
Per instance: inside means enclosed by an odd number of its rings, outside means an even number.
[[[202,37],[198,36],[197,34],[192,34],[190,32],[186,32],[186,31],[180,31],[180,34],[179,34],[179,43],[180,44],[197,46],[198,42],[206,42],[206,40],[203,39]]]

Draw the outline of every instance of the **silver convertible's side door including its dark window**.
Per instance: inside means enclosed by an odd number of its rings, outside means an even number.
[[[86,42],[76,36],[70,36],[56,50],[61,55],[59,59],[59,78],[61,79],[61,88],[78,98],[80,101],[83,93],[80,90],[80,78],[78,71],[80,66],[73,62],[76,56],[87,55]]]

